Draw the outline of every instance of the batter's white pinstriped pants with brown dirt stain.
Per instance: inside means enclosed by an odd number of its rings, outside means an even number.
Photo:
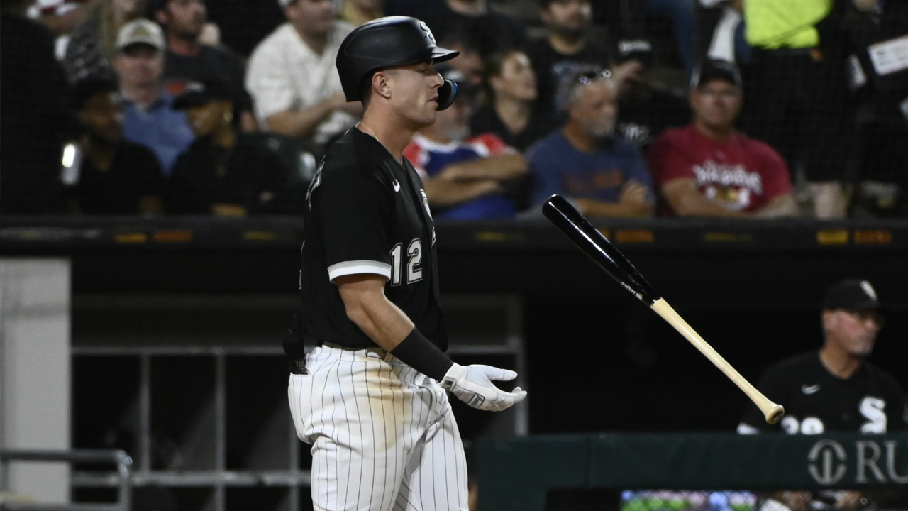
[[[317,511],[468,511],[447,393],[379,348],[318,346],[287,389]]]

